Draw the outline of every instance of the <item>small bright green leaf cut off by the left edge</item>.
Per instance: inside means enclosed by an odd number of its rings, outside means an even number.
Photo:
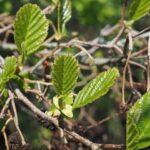
[[[0,74],[0,91],[5,87],[6,83],[12,79],[16,78],[15,71],[16,71],[16,58],[14,56],[7,57],[5,59],[2,73]]]

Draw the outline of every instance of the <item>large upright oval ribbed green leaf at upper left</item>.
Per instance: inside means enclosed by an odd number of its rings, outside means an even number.
[[[49,22],[35,4],[26,4],[18,12],[14,24],[14,39],[19,52],[30,55],[43,44],[48,34]]]

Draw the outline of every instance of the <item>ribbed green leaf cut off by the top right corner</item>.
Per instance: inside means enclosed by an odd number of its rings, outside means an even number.
[[[129,9],[130,20],[136,21],[150,11],[150,0],[133,0]]]

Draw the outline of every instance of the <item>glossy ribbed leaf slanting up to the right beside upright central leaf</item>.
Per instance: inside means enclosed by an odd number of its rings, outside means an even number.
[[[100,73],[79,92],[73,108],[80,108],[105,95],[118,76],[119,72],[116,68]]]

